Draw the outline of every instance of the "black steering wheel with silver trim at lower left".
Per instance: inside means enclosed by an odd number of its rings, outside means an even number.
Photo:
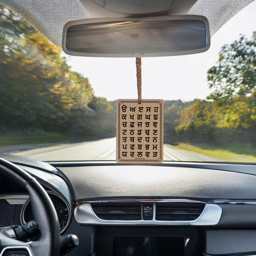
[[[41,231],[37,241],[28,243],[12,239],[0,231],[0,256],[16,255],[18,252],[23,252],[19,255],[29,256],[59,256],[60,225],[57,212],[44,188],[19,166],[2,158],[0,173],[28,190],[33,216]]]

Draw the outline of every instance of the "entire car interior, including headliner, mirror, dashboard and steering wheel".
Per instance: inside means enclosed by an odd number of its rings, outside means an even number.
[[[207,51],[253,1],[0,2],[66,54],[143,61]],[[0,158],[0,256],[256,253],[255,163]]]

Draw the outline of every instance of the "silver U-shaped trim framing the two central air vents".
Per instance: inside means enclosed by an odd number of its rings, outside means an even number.
[[[159,221],[156,220],[155,218],[153,218],[153,220],[102,220],[99,217],[97,217],[97,215],[93,212],[91,204],[86,203],[76,206],[74,211],[74,217],[78,223],[90,225],[213,226],[217,225],[217,223],[220,221],[221,213],[222,209],[219,205],[205,204],[204,210],[202,211],[201,215],[196,220],[192,221]]]

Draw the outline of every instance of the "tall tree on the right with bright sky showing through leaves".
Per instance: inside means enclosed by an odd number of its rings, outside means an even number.
[[[256,89],[256,32],[223,45],[217,63],[207,71],[213,100],[234,99]]]

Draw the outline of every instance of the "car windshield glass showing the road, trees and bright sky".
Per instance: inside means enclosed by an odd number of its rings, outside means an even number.
[[[205,53],[142,58],[142,99],[164,100],[164,160],[256,162],[256,3]],[[0,5],[0,154],[116,159],[116,100],[135,58],[70,57]]]

